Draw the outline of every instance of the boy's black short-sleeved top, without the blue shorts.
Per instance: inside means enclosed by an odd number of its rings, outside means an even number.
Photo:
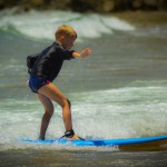
[[[59,73],[63,60],[73,59],[73,50],[63,49],[59,43],[46,48],[37,59],[31,70],[31,75],[42,77],[52,81]]]

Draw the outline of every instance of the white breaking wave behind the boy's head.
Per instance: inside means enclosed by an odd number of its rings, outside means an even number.
[[[28,37],[53,39],[60,24],[72,26],[81,38],[98,38],[114,30],[132,31],[135,27],[116,17],[95,13],[81,14],[70,11],[33,11],[21,14],[0,13],[0,29],[16,31]]]

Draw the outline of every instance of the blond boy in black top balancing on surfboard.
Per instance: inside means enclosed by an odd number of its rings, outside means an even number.
[[[80,139],[72,129],[70,101],[52,81],[58,76],[63,60],[86,58],[91,53],[91,50],[86,48],[80,53],[70,50],[77,39],[77,33],[69,26],[60,26],[55,36],[57,41],[39,53],[32,69],[29,69],[29,87],[45,107],[39,139],[45,140],[46,131],[53,114],[52,101],[59,104],[62,108],[62,118],[66,128],[63,137],[70,140]]]

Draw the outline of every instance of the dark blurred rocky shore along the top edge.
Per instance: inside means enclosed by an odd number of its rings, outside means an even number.
[[[167,11],[167,0],[0,0],[0,10],[61,9],[79,12],[109,13],[116,11]]]

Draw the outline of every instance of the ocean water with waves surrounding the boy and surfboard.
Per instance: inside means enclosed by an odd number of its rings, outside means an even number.
[[[66,61],[55,84],[72,104],[75,131],[84,138],[167,135],[167,22],[138,26],[115,16],[65,11],[0,12],[1,166],[166,166],[166,151],[121,151],[22,144],[38,138],[43,108],[26,86],[26,58],[53,41],[62,23],[78,32],[76,50],[92,55]],[[65,132],[55,104],[47,138]],[[19,159],[22,159],[19,161]]]

